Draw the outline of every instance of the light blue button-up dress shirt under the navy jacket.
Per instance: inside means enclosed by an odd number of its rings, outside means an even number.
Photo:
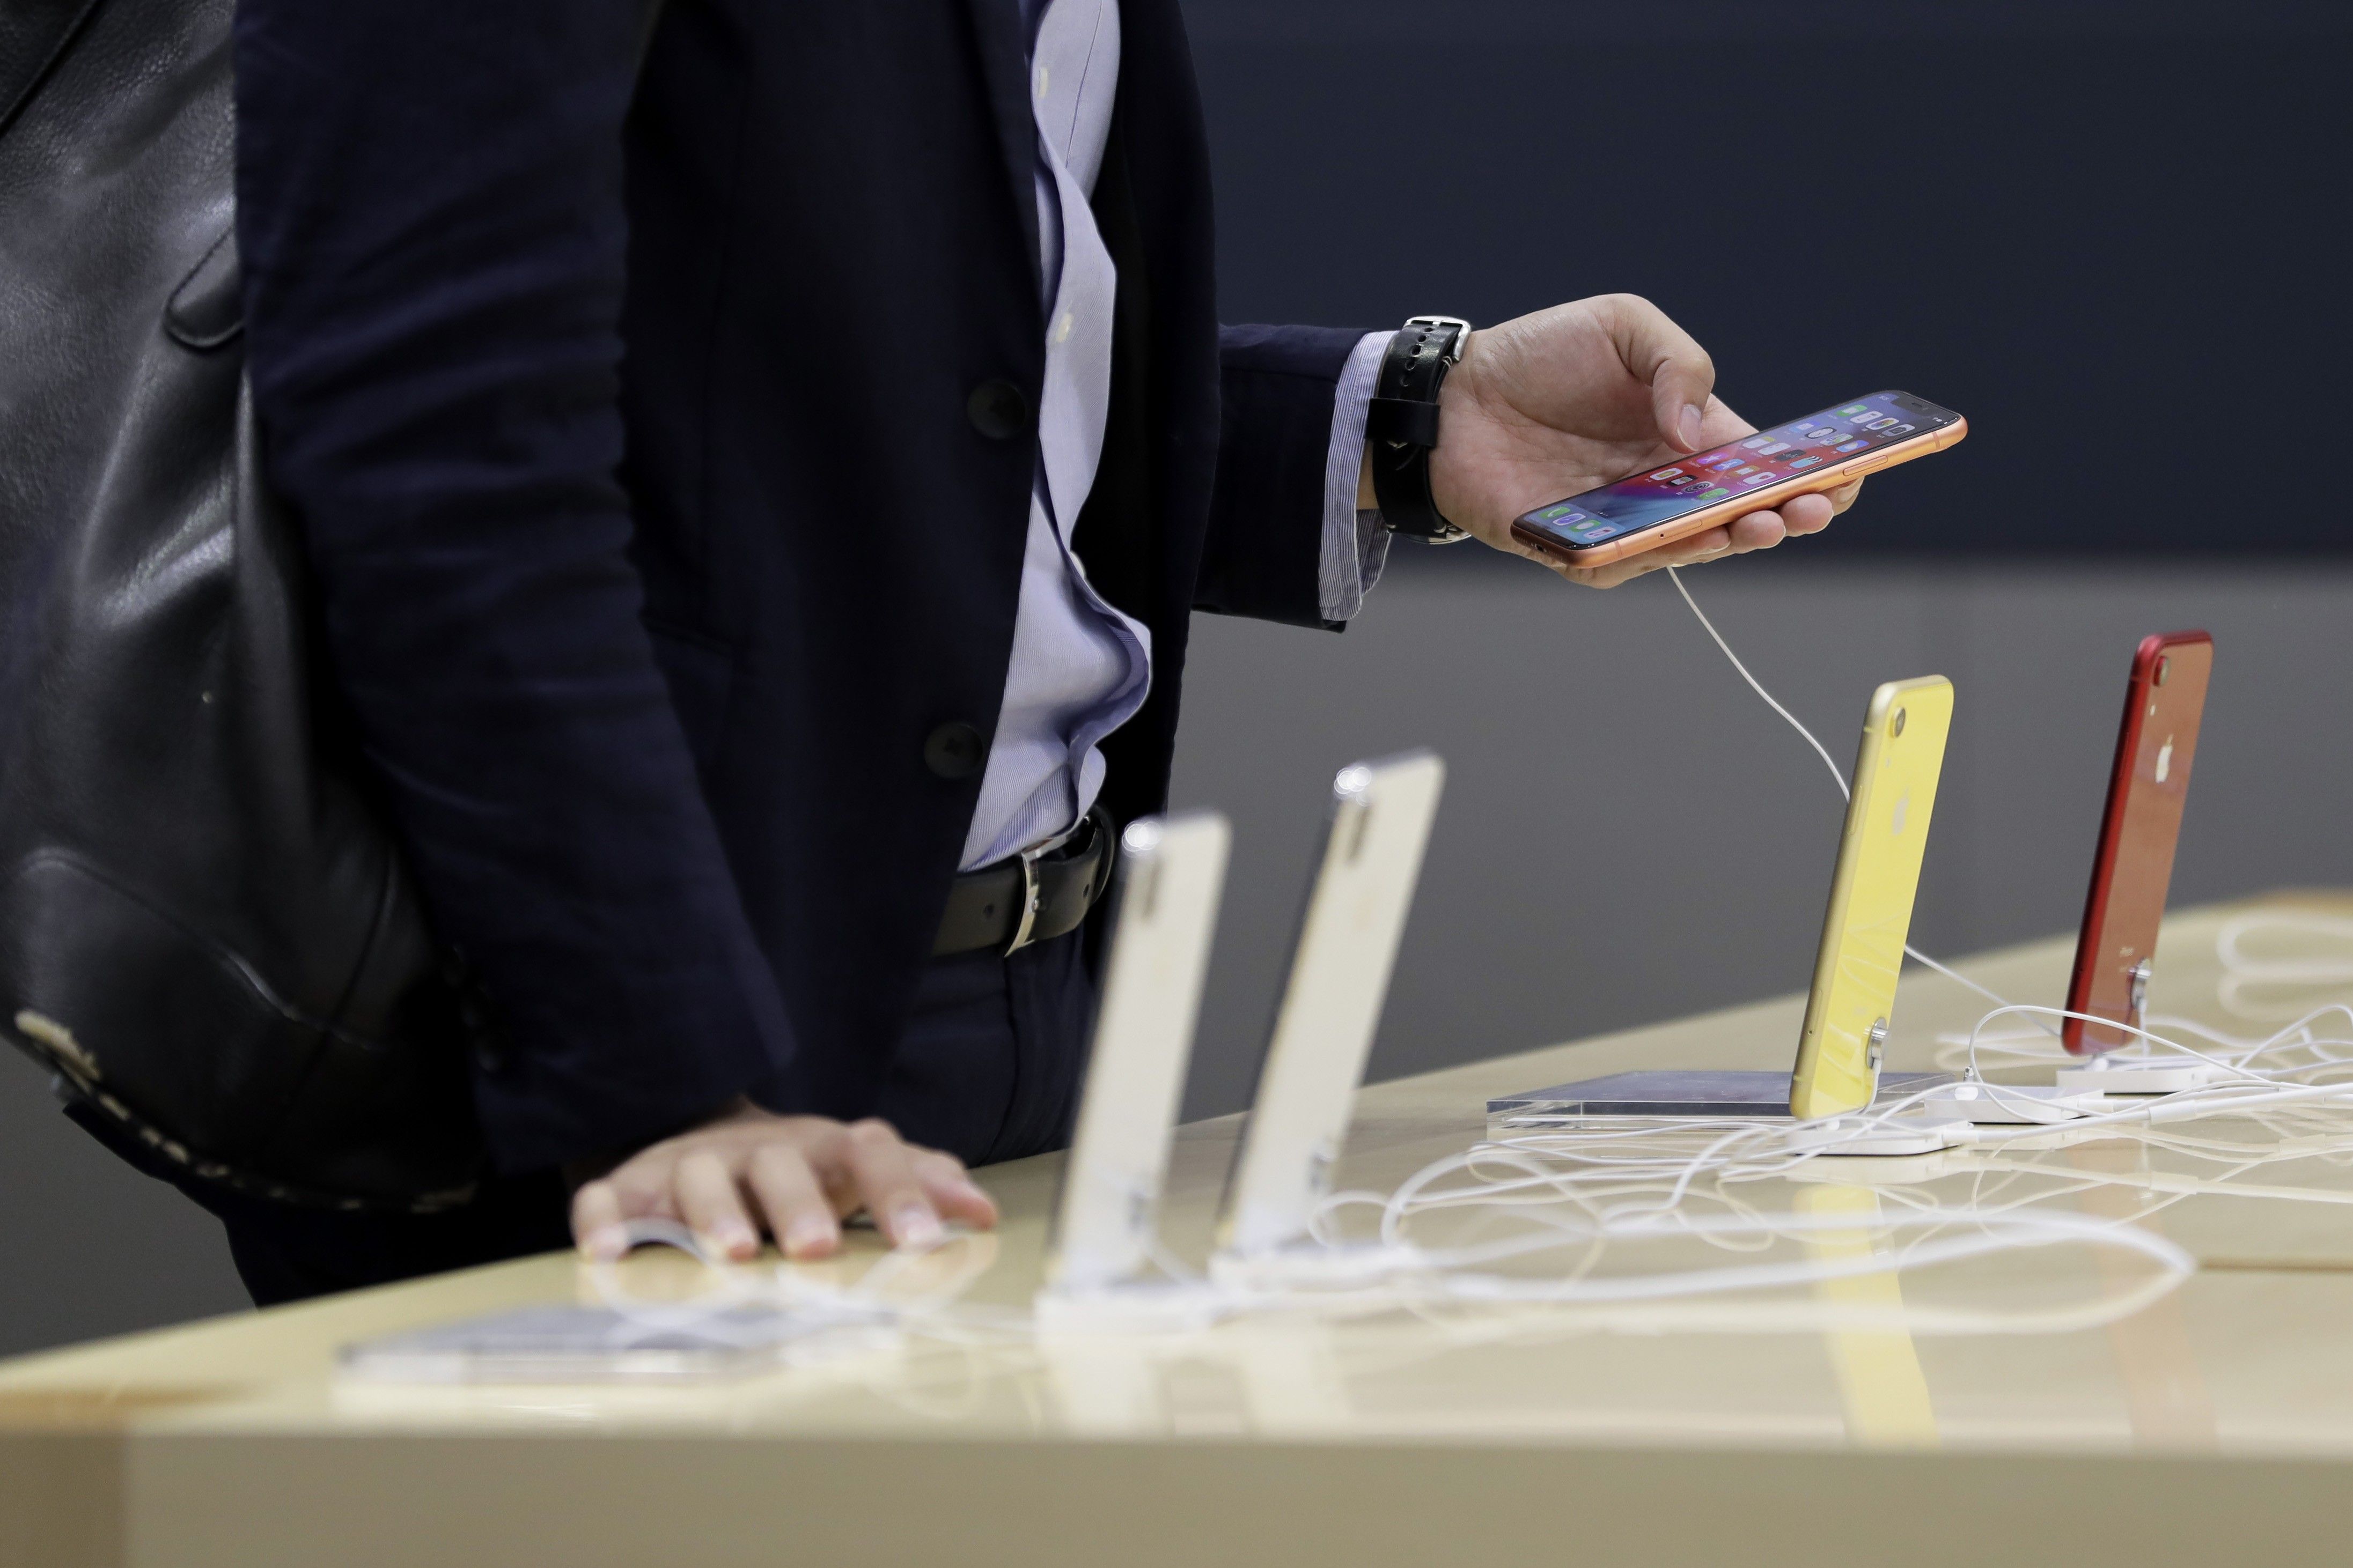
[[[1087,202],[1120,80],[1120,7],[1118,0],[1019,2],[1031,24],[1031,113],[1038,122],[1045,386],[1005,703],[965,835],[962,870],[1078,825],[1104,788],[1104,738],[1144,708],[1153,679],[1151,630],[1113,609],[1071,550],[1111,414],[1118,270]],[[1355,475],[1388,336],[1374,331],[1355,346],[1332,407],[1318,578],[1327,621],[1355,616],[1386,559],[1379,515],[1355,510]]]

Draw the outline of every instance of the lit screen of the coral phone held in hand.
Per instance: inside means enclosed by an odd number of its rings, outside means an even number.
[[[1906,393],[1873,393],[1758,430],[1737,442],[1694,451],[1581,496],[1539,505],[1520,522],[1569,545],[1598,545],[1624,534],[1689,517],[1741,491],[1795,480],[1821,465],[1852,463],[1922,430],[1951,425],[1958,414]]]

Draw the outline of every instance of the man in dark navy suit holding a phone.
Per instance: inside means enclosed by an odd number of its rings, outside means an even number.
[[[591,1251],[638,1215],[739,1255],[861,1206],[991,1222],[965,1164],[1071,1119],[1085,914],[1162,804],[1186,618],[1337,628],[1386,550],[1386,334],[1217,324],[1176,0],[642,21],[240,7],[273,480],[501,1013],[504,1175],[435,1218],[224,1199],[266,1300],[558,1246],[567,1201]],[[1628,296],[1473,334],[1431,501],[1515,550],[1518,510],[1746,433],[1711,383]]]

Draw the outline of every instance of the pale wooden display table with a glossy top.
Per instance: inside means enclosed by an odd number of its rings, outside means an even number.
[[[2228,912],[2167,926],[2153,1009],[2249,1034],[2217,1009]],[[2068,952],[2047,940],[1965,971],[2054,1001]],[[1915,971],[1889,1065],[1927,1065],[1937,1032],[1981,1011]],[[1339,1180],[1386,1190],[1471,1145],[1492,1093],[1645,1065],[1786,1067],[1798,1020],[1786,997],[1381,1084],[1360,1098]],[[1235,1131],[1226,1117],[1179,1138],[1165,1215],[1179,1255],[1205,1251]],[[2153,1168],[2115,1140],[2059,1159],[2118,1178],[2078,1199],[2089,1213],[2127,1213]],[[986,1173],[1005,1227],[958,1244],[986,1251],[967,1300],[1028,1300],[1056,1168]],[[1946,1197],[1988,1180],[1915,1178]],[[1889,1180],[1828,1187],[1873,1204]],[[2261,1180],[2353,1199],[2353,1164],[2322,1154]],[[1760,1182],[1751,1199],[1786,1208],[1795,1187]],[[2151,1568],[2353,1554],[2353,1206],[2188,1194],[2146,1225],[2202,1272],[2071,1333],[1628,1333],[1626,1314],[1605,1328],[1391,1312],[1158,1340],[911,1342],[699,1387],[334,1375],[351,1340],[588,1288],[572,1258],[529,1258],[0,1363],[0,1563]],[[1906,1298],[2085,1298],[2137,1265],[2061,1246],[1941,1267],[1951,1279],[1906,1274]],[[647,1291],[687,1274],[659,1255],[626,1269]]]

